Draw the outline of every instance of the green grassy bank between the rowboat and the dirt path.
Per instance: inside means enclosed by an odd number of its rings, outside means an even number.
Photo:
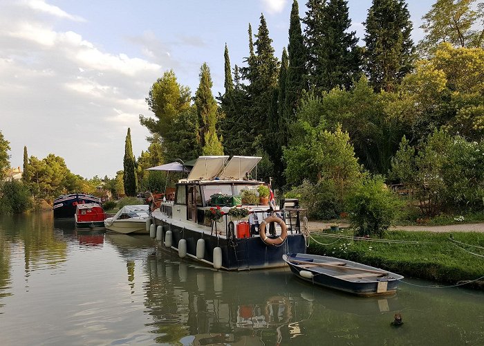
[[[388,231],[380,239],[351,230],[311,233],[308,253],[339,257],[407,277],[484,290],[484,233]]]

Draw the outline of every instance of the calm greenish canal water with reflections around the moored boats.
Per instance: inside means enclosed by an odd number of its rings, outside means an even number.
[[[50,212],[0,216],[0,345],[484,345],[483,292],[404,281],[358,298],[287,268],[214,271]]]

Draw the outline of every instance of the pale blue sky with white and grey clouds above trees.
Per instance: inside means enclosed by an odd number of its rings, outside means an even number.
[[[435,0],[407,0],[413,40]],[[306,1],[299,1],[304,17]],[[28,156],[61,156],[84,178],[122,170],[131,128],[133,154],[146,150],[153,116],[145,98],[173,69],[194,95],[203,62],[214,95],[223,93],[223,51],[243,65],[248,24],[266,17],[276,55],[288,44],[289,0],[0,0],[0,131],[10,141],[10,165]],[[349,0],[361,39],[371,0]]]

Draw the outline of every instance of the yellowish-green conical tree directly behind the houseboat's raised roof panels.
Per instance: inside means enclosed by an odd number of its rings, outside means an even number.
[[[207,63],[200,69],[200,84],[195,93],[198,136],[204,155],[221,155],[223,147],[216,134],[217,104],[212,95],[212,77]]]

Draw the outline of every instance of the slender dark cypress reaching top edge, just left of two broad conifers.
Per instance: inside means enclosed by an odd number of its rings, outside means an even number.
[[[290,12],[288,58],[289,67],[283,99],[283,114],[286,119],[292,118],[299,103],[299,98],[301,98],[301,93],[303,89],[306,89],[304,81],[304,76],[306,75],[306,54],[304,53],[304,39],[301,33],[299,5],[296,0],[292,2]],[[280,84],[281,82],[279,81]],[[287,133],[286,130],[285,133]],[[284,140],[283,145],[287,145],[287,140]]]

